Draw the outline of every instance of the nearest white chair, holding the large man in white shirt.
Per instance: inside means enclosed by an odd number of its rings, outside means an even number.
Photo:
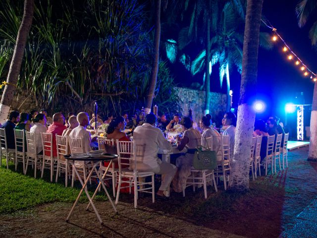
[[[154,173],[153,172],[139,172],[137,170],[137,157],[142,157],[143,148],[136,148],[133,141],[119,141],[116,140],[117,151],[118,151],[118,189],[117,195],[115,199],[115,204],[119,201],[120,189],[124,187],[130,188],[134,186],[134,208],[137,208],[137,200],[138,200],[138,192],[147,192],[152,193],[152,202],[155,202],[155,192],[154,192]],[[129,157],[129,158],[127,158]],[[132,168],[124,168],[122,169],[122,165],[126,165],[122,163],[121,159],[129,160],[127,165],[130,165]],[[150,182],[143,181],[146,177],[151,177]],[[121,186],[122,178],[127,178],[128,180],[124,180],[124,183],[128,183],[128,186]],[[151,185],[150,187],[145,187],[147,185]],[[149,191],[150,190],[150,191]]]

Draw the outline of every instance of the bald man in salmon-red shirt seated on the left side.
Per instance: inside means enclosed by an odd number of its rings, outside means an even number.
[[[51,124],[47,130],[46,133],[52,133],[53,134],[53,156],[57,157],[57,149],[56,149],[56,134],[62,135],[64,129],[67,127],[64,125],[65,123],[65,117],[61,113],[55,113],[53,115],[53,124]],[[46,152],[46,155],[50,156],[48,154],[49,152]]]

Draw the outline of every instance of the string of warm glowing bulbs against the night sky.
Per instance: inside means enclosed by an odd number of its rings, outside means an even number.
[[[286,52],[289,52],[289,53],[290,53],[290,54],[288,55],[288,57],[287,57],[288,60],[293,60],[293,59],[296,60],[296,61],[295,61],[295,64],[298,65],[298,66],[301,65],[300,69],[301,69],[302,71],[305,71],[305,72],[304,72],[304,76],[311,75],[310,78],[313,78],[313,77],[314,77],[314,81],[316,82],[316,81],[317,81],[317,77],[316,77],[317,75],[316,75],[316,73],[314,73],[311,69],[309,69],[309,67],[291,50],[291,48],[286,44],[286,42],[284,41],[284,39],[277,33],[276,28],[274,28],[274,27],[271,25],[271,23],[269,23],[268,20],[266,20],[266,21],[267,21],[267,23],[268,23],[269,25],[267,25],[266,22],[264,22],[263,19],[261,19],[261,21],[264,23],[264,25],[265,25],[266,27],[272,29],[272,31],[274,32],[274,33],[273,33],[273,37],[272,37],[272,41],[273,41],[273,42],[277,41],[277,37],[283,42],[283,44],[284,44],[283,52],[285,52],[285,53],[286,53]]]

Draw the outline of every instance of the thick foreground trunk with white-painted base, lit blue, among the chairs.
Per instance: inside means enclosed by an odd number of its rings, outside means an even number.
[[[250,100],[257,86],[262,5],[263,0],[247,1],[238,120],[229,180],[229,189],[234,191],[244,191],[249,188],[252,132],[255,122],[255,112]]]

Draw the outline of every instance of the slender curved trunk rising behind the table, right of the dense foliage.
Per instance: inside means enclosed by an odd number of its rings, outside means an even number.
[[[157,84],[158,72],[159,72],[159,41],[160,41],[160,0],[156,0],[156,23],[155,23],[155,56],[153,61],[153,67],[151,72],[151,82],[149,86],[149,93],[146,98],[145,113],[151,112],[152,101],[154,98],[154,92]]]

